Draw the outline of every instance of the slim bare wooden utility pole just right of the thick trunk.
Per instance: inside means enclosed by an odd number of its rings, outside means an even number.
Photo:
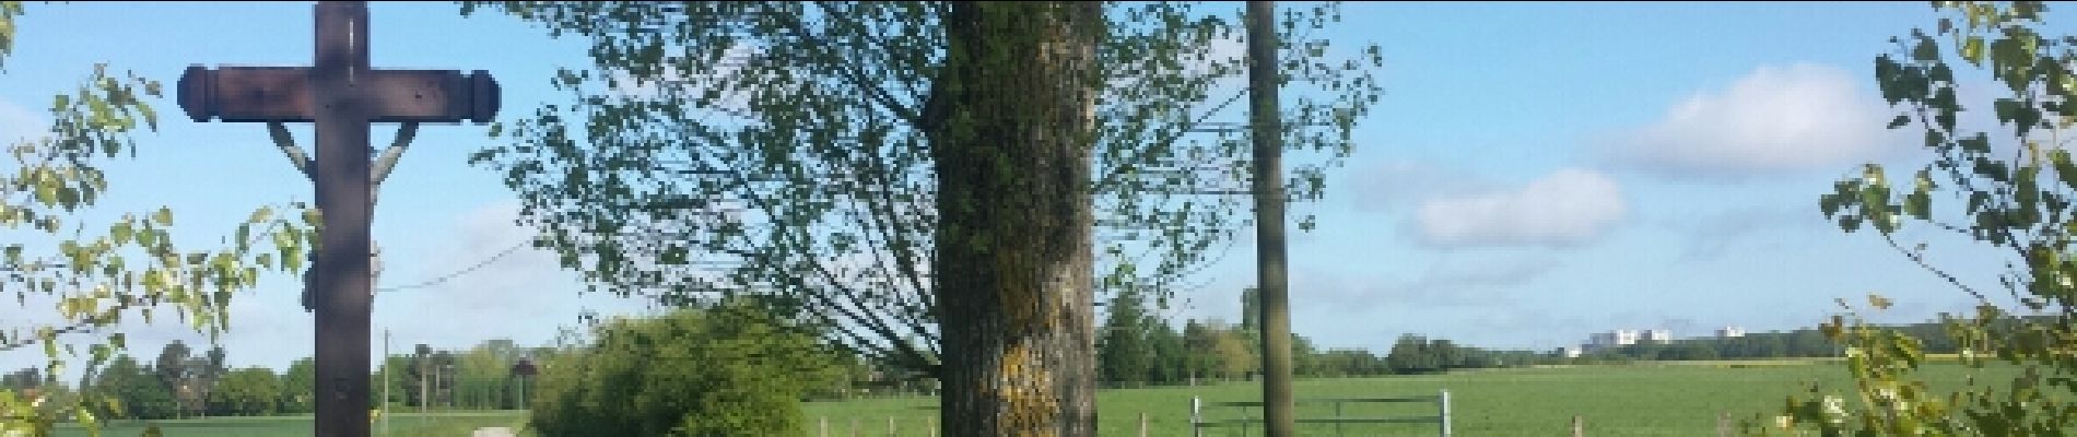
[[[1263,323],[1263,435],[1292,437],[1292,321],[1284,257],[1284,116],[1275,4],[1248,2],[1248,114],[1255,118],[1255,273]]]

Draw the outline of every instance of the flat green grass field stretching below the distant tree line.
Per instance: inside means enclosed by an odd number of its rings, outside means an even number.
[[[1952,389],[1971,371],[1959,365],[1930,365],[1934,389]],[[1988,369],[1986,373],[2008,373]],[[1992,375],[1998,377],[1998,375]],[[1828,389],[1849,389],[1846,371],[1828,360],[1718,360],[1649,362],[1628,367],[1543,367],[1464,371],[1417,377],[1300,379],[1298,398],[1402,398],[1450,389],[1456,435],[1518,437],[1566,435],[1572,416],[1595,437],[1714,435],[1716,418],[1774,414],[1805,381]],[[1998,381],[1998,379],[1992,379]],[[1149,435],[1190,435],[1190,398],[1207,402],[1255,400],[1255,383],[1201,387],[1105,389],[1099,394],[1101,435],[1136,435],[1147,414]],[[926,435],[935,423],[935,398],[870,398],[806,404],[808,435],[829,423],[831,435],[887,435],[893,418],[899,435]],[[1207,410],[1207,418],[1238,418],[1242,410]],[[1331,406],[1302,406],[1304,416],[1333,416]],[[1431,416],[1435,404],[1352,404],[1344,416]],[[390,418],[397,437],[465,437],[478,427],[521,429],[523,412],[434,412]],[[168,437],[285,437],[309,435],[309,416],[160,420]],[[104,435],[139,435],[141,425],[118,423]],[[1435,425],[1344,425],[1344,435],[1435,435]],[[58,435],[85,435],[66,429]],[[378,429],[380,435],[380,429]],[[1205,435],[1240,435],[1240,429],[1211,429]],[[1261,435],[1252,429],[1250,435]],[[1300,425],[1300,435],[1336,435],[1333,425]]]

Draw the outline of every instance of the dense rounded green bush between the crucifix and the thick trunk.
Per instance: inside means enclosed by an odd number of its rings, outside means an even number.
[[[596,336],[544,362],[530,396],[540,435],[802,435],[802,394],[839,377],[814,333],[735,302]]]

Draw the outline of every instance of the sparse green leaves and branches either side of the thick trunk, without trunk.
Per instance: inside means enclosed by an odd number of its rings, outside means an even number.
[[[692,302],[785,294],[839,342],[912,369],[939,346],[939,186],[926,130],[947,62],[943,2],[465,2],[592,41],[555,79],[573,106],[501,124],[476,164],[519,191],[540,242],[600,290]],[[1167,300],[1232,242],[1246,207],[1238,6],[1107,4],[1093,141],[1099,290]],[[1290,10],[1284,33],[1338,19]],[[1377,48],[1327,58],[1286,35],[1292,201],[1377,101]],[[503,130],[503,133],[501,133]],[[1244,220],[1244,217],[1242,217]],[[908,338],[926,342],[914,344]]]

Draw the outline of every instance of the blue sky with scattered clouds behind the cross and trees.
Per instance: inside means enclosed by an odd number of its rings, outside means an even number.
[[[548,87],[555,66],[586,62],[582,41],[515,19],[461,19],[453,4],[370,8],[378,68],[490,70],[505,116],[561,97]],[[1873,234],[1842,234],[1817,213],[1817,195],[1857,164],[1923,159],[1917,141],[1882,128],[1890,112],[1871,60],[1888,37],[1934,19],[1923,2],[1346,4],[1329,37],[1381,43],[1385,95],[1360,122],[1354,157],[1331,172],[1327,199],[1309,207],[1319,230],[1292,240],[1294,329],[1319,346],[1379,352],[1400,333],[1556,348],[1618,327],[1807,327],[1834,298],[1867,292],[1898,300],[1882,319],[1965,309],[1961,292]],[[50,95],[93,62],[168,85],[197,62],[301,66],[309,25],[307,2],[31,4],[0,75],[0,139],[33,135]],[[154,104],[177,114],[170,95]],[[291,130],[307,145],[307,126]],[[372,139],[386,143],[393,130],[378,126]],[[380,286],[523,242],[513,193],[465,162],[490,141],[474,124],[420,130],[376,211]],[[260,124],[166,118],[139,139],[135,159],[108,172],[98,213],[168,205],[189,242],[226,234],[255,205],[309,199],[309,182]],[[1250,246],[1236,244],[1174,315],[1238,321],[1238,290],[1255,278]],[[1934,249],[1936,261],[1994,286],[1981,251]],[[282,367],[312,352],[297,286],[270,275],[237,298],[222,340],[233,365]],[[521,251],[442,286],[380,294],[374,321],[395,333],[395,350],[465,348],[488,338],[546,344],[582,309],[642,311],[579,290],[552,257]],[[46,311],[4,309],[23,317]],[[177,338],[201,342],[179,325],[127,329],[139,356]],[[0,367],[39,358],[0,352]]]

